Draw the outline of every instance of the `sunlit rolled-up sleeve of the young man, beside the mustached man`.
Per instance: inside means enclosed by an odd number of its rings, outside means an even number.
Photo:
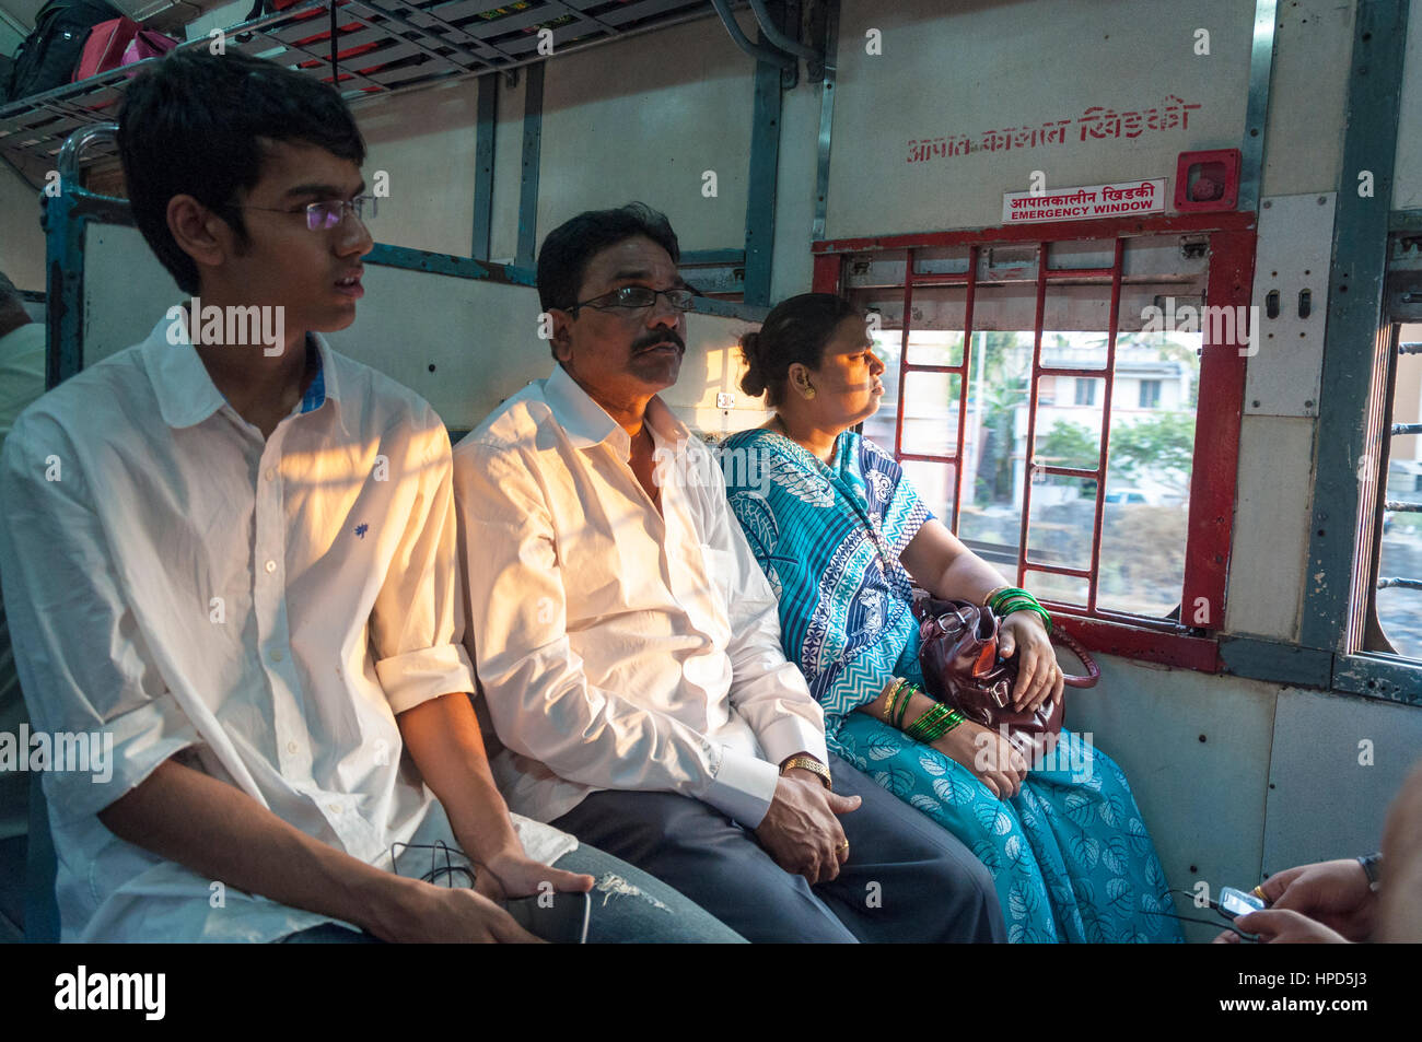
[[[417,499],[385,581],[371,610],[375,675],[401,714],[442,695],[474,691],[474,668],[461,643],[458,535],[449,435],[429,411],[405,452]]]

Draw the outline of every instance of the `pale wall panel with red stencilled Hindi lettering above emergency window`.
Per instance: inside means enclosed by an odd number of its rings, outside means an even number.
[[[1048,188],[1169,178],[1173,193],[1179,152],[1244,134],[1251,3],[842,11],[830,239],[1000,225],[1003,192],[1031,188],[1032,171]]]

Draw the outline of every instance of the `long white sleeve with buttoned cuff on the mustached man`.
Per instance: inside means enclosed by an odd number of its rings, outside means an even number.
[[[522,451],[466,442],[455,455],[468,598],[466,644],[509,749],[600,789],[680,792],[748,827],[778,772],[670,714],[589,682],[567,638],[552,513]]]

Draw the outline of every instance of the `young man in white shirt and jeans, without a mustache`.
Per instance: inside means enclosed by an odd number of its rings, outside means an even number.
[[[44,775],[64,938],[525,941],[498,900],[587,871],[627,894],[630,869],[512,820],[489,776],[444,425],[309,335],[354,321],[373,245],[340,97],[173,54],[129,87],[119,152],[202,313],[36,402],[0,466],[33,726],[92,736],[88,770]],[[619,898],[594,940],[734,940],[638,884],[661,907]]]

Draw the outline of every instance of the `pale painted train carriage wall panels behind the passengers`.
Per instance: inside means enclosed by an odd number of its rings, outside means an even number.
[[[208,20],[233,21],[245,9],[236,3]],[[1416,4],[1412,16],[1394,209],[1422,206]],[[1335,195],[1355,183],[1355,172],[1342,169],[1354,17],[1351,0],[1278,6],[1260,198],[1281,209],[1321,198],[1331,216]],[[845,0],[825,237],[993,226],[1001,223],[1003,192],[1025,190],[1032,171],[1049,186],[1173,178],[1182,151],[1239,148],[1251,23],[1253,4],[1239,0],[973,0],[950,13],[931,0]],[[1196,53],[1199,28],[1209,30],[1207,55]],[[867,53],[872,30],[882,54]],[[684,249],[738,246],[752,78],[751,61],[715,18],[555,55],[543,90],[539,239],[582,209],[643,199],[671,217]],[[513,259],[518,247],[526,84],[523,72],[499,88],[493,260]],[[772,300],[809,289],[819,95],[802,75],[784,98]],[[1071,134],[1035,149],[904,159],[913,139],[1076,121],[1098,105],[1140,111],[1172,97],[1197,105],[1187,129],[1085,141]],[[357,108],[370,145],[367,181],[377,169],[390,175],[390,198],[371,225],[378,242],[471,254],[475,98],[466,81]],[[704,190],[708,171],[715,195]],[[9,171],[0,172],[0,208],[37,213],[33,193]],[[1321,252],[1327,267],[1331,220],[1270,222],[1267,213],[1260,259],[1270,250]],[[43,289],[37,222],[14,233],[10,216],[6,225],[0,269],[23,289]],[[1261,263],[1256,296],[1268,277]],[[357,323],[333,343],[424,394],[452,429],[474,426],[549,372],[530,289],[374,266],[365,284]],[[146,335],[176,299],[137,232],[91,226],[88,361]],[[1324,320],[1320,308],[1303,345],[1264,347],[1249,361],[1251,387],[1288,392],[1243,417],[1229,634],[1298,640],[1317,436],[1317,408],[1304,401],[1308,390],[1318,392]],[[668,398],[700,429],[741,429],[765,415],[737,387],[732,345],[745,327],[691,317],[681,382]],[[734,394],[734,408],[717,408],[718,392]],[[1109,655],[1102,674],[1098,688],[1069,692],[1066,722],[1125,769],[1173,887],[1247,887],[1261,871],[1374,850],[1388,802],[1422,749],[1413,707]],[[1192,927],[1194,940],[1200,931]]]

